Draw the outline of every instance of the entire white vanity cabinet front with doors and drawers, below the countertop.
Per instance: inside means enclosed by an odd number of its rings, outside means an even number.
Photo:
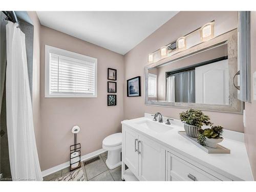
[[[122,135],[122,175],[127,165],[139,181],[232,181],[129,127]]]

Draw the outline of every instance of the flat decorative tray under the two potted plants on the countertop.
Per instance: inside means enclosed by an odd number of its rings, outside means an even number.
[[[224,146],[221,146],[220,144],[217,144],[217,148],[211,148],[211,147],[208,147],[208,146],[200,145],[197,142],[197,138],[188,137],[186,135],[185,131],[178,131],[178,134],[180,134],[182,137],[185,137],[186,139],[188,139],[189,141],[191,141],[192,143],[197,145],[199,148],[201,148],[203,151],[205,151],[209,154],[214,154],[214,153],[222,153],[222,154],[227,153],[227,154],[229,154],[230,153],[230,150],[228,148],[226,148]]]

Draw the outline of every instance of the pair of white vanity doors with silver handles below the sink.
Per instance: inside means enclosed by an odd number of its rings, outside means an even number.
[[[165,181],[164,148],[127,127],[122,133],[122,166],[126,164],[140,181]]]

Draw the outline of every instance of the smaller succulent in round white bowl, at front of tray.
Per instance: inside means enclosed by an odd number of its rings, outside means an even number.
[[[217,148],[217,144],[223,140],[221,137],[222,133],[222,126],[212,126],[210,129],[200,130],[197,139],[198,143],[212,148]]]

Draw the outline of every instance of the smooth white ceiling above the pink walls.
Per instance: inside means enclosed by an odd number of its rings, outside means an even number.
[[[124,55],[178,11],[37,11],[41,25]]]

